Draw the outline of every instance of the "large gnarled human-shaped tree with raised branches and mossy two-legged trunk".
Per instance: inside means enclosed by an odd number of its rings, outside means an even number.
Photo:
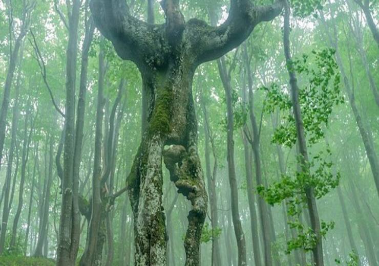
[[[196,18],[185,21],[179,0],[160,4],[165,14],[162,25],[133,17],[125,0],[92,0],[91,10],[97,28],[112,41],[117,54],[133,61],[142,76],[147,126],[127,178],[135,217],[135,264],[166,264],[163,158],[178,193],[192,204],[184,239],[185,265],[199,265],[207,194],[197,151],[194,72],[201,63],[238,47],[255,26],[278,16],[283,4],[257,6],[251,0],[231,0],[229,16],[218,27]]]

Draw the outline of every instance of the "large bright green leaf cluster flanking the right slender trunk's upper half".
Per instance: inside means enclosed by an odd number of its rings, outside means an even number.
[[[341,95],[340,74],[334,59],[335,50],[313,50],[311,55],[304,54],[294,59],[291,64],[293,71],[307,80],[299,91],[299,103],[302,112],[305,134],[310,144],[317,143],[324,137],[323,127],[328,126],[328,120],[333,106],[344,103]],[[262,87],[267,92],[265,111],[273,113],[276,108],[290,113],[292,103],[284,89],[277,84],[269,88]],[[292,114],[285,117],[285,122],[275,131],[272,142],[292,147],[296,143],[296,126]]]

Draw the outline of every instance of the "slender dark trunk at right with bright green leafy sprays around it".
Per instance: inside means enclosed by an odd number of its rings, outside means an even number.
[[[305,139],[301,109],[300,109],[300,104],[299,104],[299,87],[297,83],[296,74],[294,73],[291,67],[292,59],[291,59],[291,54],[290,54],[290,41],[289,41],[290,9],[289,9],[288,2],[287,1],[285,2],[286,3],[284,7],[283,46],[284,46],[284,53],[285,53],[285,58],[286,58],[286,63],[287,63],[288,74],[289,74],[289,83],[291,87],[291,99],[292,99],[292,106],[293,106],[292,108],[293,108],[293,114],[294,114],[294,119],[295,119],[295,124],[296,124],[299,150],[301,154],[301,165],[303,168],[302,171],[304,171],[305,173],[308,173],[309,169],[306,169],[306,166],[305,166],[305,164],[308,162],[308,151],[307,151],[307,144],[306,144],[306,139]],[[320,219],[319,219],[319,213],[317,210],[316,200],[314,197],[313,187],[307,187],[305,189],[305,194],[306,194],[306,201],[307,201],[307,206],[309,210],[311,229],[317,239],[315,246],[312,249],[313,259],[314,259],[314,263],[317,266],[323,266],[324,259],[323,259]]]

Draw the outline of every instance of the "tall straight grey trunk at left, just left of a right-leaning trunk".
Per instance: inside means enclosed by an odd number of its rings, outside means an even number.
[[[57,266],[75,264],[80,237],[78,181],[73,178],[75,145],[75,83],[80,1],[73,0],[69,16],[66,64],[65,149],[62,178],[62,205],[59,221]],[[69,8],[69,7],[68,7]]]

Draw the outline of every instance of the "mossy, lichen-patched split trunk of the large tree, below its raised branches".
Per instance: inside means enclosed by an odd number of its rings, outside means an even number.
[[[166,69],[142,73],[149,102],[148,127],[127,181],[134,213],[136,265],[166,264],[162,207],[162,157],[178,192],[192,203],[184,240],[186,265],[198,265],[207,195],[197,154],[197,121],[191,94],[193,70],[173,58]],[[166,146],[166,148],[164,148]]]

